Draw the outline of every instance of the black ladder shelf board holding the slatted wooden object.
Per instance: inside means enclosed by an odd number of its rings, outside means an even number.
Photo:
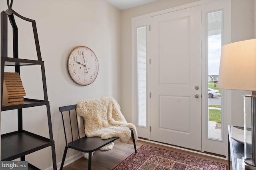
[[[49,101],[24,98],[24,104],[18,104],[18,105],[12,105],[12,106],[2,106],[1,111],[22,109],[22,108],[34,107],[34,106],[43,106],[48,103],[49,103]]]

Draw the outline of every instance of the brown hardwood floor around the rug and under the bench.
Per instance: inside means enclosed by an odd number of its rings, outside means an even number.
[[[224,164],[228,164],[228,160],[214,158],[212,156],[202,155],[194,152],[189,152],[186,150],[180,150],[175,149],[172,147],[167,147],[163,145],[158,145],[155,143],[149,143],[145,141],[136,141],[136,147],[137,149],[141,147],[142,145],[150,145],[166,150],[171,150],[174,152],[179,152],[182,154],[188,154],[191,156],[196,156],[199,158],[204,158],[216,162],[221,162]],[[120,162],[122,162],[125,158],[127,158],[130,154],[134,152],[134,147],[132,140],[128,141],[128,143],[121,143],[119,140],[115,141],[115,145],[113,149],[111,150],[97,150],[94,152],[92,156],[92,170],[112,170],[114,167],[116,167]],[[88,169],[88,160],[83,158],[80,158],[76,160],[75,162],[65,166],[63,170],[87,170]]]

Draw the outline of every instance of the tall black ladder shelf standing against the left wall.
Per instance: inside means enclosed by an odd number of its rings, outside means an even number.
[[[6,133],[1,135],[1,160],[14,160],[20,158],[21,161],[25,160],[25,155],[32,152],[36,152],[40,149],[46,147],[52,148],[52,163],[53,169],[57,170],[56,166],[56,153],[55,145],[52,135],[52,121],[50,114],[50,105],[47,96],[46,89],[46,78],[44,70],[44,61],[41,58],[40,46],[38,41],[36,21],[20,16],[14,10],[12,10],[12,3],[9,4],[7,0],[8,10],[1,12],[1,94],[3,94],[3,83],[4,83],[4,68],[5,66],[14,66],[15,72],[20,74],[20,66],[31,66],[31,65],[40,65],[42,72],[42,84],[44,90],[44,100],[28,99],[24,98],[24,104],[14,105],[14,106],[3,106],[1,95],[1,111],[17,109],[18,112],[18,131]],[[36,44],[36,52],[38,60],[28,60],[28,59],[19,59],[18,58],[18,27],[14,20],[14,15],[22,20],[32,23],[32,28],[34,32],[34,39]],[[8,18],[12,25],[13,32],[13,58],[7,57],[8,52]],[[46,106],[47,117],[48,117],[48,127],[49,127],[49,139],[23,129],[22,125],[22,109],[27,107],[36,107],[36,106]],[[39,169],[36,166],[28,163],[28,169]]]

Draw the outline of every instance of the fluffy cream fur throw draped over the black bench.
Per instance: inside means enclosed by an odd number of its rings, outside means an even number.
[[[131,137],[130,128],[133,128],[134,138],[138,139],[136,127],[127,123],[118,102],[112,97],[79,101],[76,110],[78,116],[84,117],[87,137],[119,137],[126,143]]]

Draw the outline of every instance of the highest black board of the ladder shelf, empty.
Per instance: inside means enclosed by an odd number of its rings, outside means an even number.
[[[17,59],[17,58],[10,58],[10,57],[1,57],[1,60],[2,62],[4,62],[5,66],[27,66],[27,65],[44,64],[43,61]]]

